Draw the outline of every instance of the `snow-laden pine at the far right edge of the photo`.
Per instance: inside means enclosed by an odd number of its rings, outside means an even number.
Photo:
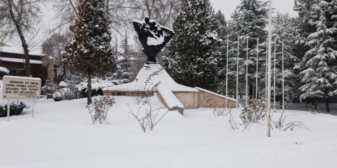
[[[300,73],[301,97],[325,98],[327,112],[330,111],[328,98],[337,95],[336,9],[335,1],[320,1],[312,6],[309,24],[316,31],[308,36],[306,45],[311,49],[303,57],[305,70]]]

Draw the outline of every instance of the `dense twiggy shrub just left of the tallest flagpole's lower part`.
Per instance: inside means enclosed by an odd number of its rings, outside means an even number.
[[[249,104],[243,105],[240,118],[245,128],[252,123],[259,122],[266,117],[266,108],[261,100],[252,98]]]

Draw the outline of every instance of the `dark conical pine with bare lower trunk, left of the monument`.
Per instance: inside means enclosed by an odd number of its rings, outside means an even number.
[[[91,100],[91,79],[116,69],[116,60],[110,45],[110,20],[103,0],[79,0],[78,18],[69,29],[74,37],[66,46],[63,61],[73,70],[88,78],[88,104]]]

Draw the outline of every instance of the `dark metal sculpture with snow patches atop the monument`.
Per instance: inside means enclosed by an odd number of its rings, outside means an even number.
[[[138,39],[143,46],[143,52],[147,56],[147,63],[156,63],[155,57],[159,51],[175,35],[172,30],[157,24],[154,20],[148,17],[141,22],[133,22],[135,31],[138,34]]]

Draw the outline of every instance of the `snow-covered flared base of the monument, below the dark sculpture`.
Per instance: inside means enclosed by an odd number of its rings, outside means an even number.
[[[157,91],[157,87],[165,87],[165,91]],[[237,100],[213,93],[202,88],[192,88],[176,83],[170,75],[159,65],[144,64],[133,82],[116,85],[103,89],[104,95],[112,96],[153,96],[156,93],[162,104],[167,108],[175,102],[166,98],[166,94],[174,94],[182,104],[183,109],[198,107],[227,107],[235,108]],[[163,95],[164,94],[164,95]],[[169,96],[168,96],[169,97]],[[171,97],[172,98],[172,97]],[[183,112],[181,112],[183,113]]]

